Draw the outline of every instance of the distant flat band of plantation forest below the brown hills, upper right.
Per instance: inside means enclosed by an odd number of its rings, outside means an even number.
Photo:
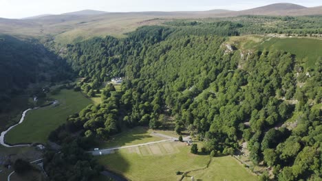
[[[252,16],[220,19],[175,20],[164,23],[174,28],[173,34],[234,36],[246,34],[286,34],[287,36],[320,36],[321,16]]]

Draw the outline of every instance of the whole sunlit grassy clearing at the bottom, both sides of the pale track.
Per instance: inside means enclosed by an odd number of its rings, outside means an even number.
[[[151,132],[142,127],[127,130],[99,147],[137,145],[162,139],[151,136]],[[199,148],[202,146],[202,143],[197,144]],[[208,155],[191,154],[190,149],[185,143],[171,141],[118,149],[114,154],[96,158],[107,169],[130,180],[179,180],[181,175],[177,176],[176,171],[202,169],[210,160]],[[202,180],[257,180],[257,176],[247,171],[231,156],[213,158],[210,167],[203,171],[191,173],[200,178],[204,176]]]

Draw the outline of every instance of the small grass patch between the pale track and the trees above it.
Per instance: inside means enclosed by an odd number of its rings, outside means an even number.
[[[120,134],[113,136],[109,141],[99,141],[96,147],[107,148],[116,146],[138,145],[152,141],[160,141],[164,138],[151,136],[152,130],[144,127],[136,127],[131,130],[123,130]]]

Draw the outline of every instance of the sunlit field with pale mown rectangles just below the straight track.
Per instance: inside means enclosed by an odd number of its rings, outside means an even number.
[[[178,180],[176,171],[202,168],[208,160],[209,156],[191,154],[190,147],[178,142],[120,149],[98,157],[100,164],[130,180]]]

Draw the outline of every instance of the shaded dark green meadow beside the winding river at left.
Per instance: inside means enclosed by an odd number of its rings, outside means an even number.
[[[70,114],[79,112],[92,101],[74,90],[61,90],[52,95],[56,106],[47,106],[27,113],[25,121],[6,134],[7,143],[45,143],[50,132],[65,123]]]

